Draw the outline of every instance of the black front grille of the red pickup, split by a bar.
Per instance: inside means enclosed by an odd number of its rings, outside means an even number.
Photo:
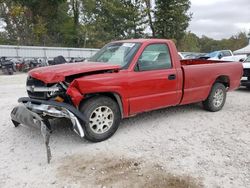
[[[37,80],[35,78],[32,77],[28,77],[27,78],[27,82],[26,82],[27,86],[34,86],[34,87],[46,87],[47,85],[40,80]],[[28,95],[30,98],[33,99],[47,99],[47,92],[32,92],[32,91],[27,91]]]

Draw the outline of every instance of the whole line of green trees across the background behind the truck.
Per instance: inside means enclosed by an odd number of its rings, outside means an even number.
[[[100,48],[128,38],[173,39],[180,51],[234,50],[246,34],[215,41],[186,32],[190,0],[0,0],[0,44]]]

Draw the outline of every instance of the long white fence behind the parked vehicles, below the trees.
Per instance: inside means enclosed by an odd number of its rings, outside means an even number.
[[[10,58],[54,58],[62,55],[65,58],[90,57],[98,49],[93,48],[60,48],[40,46],[0,45],[0,57]]]

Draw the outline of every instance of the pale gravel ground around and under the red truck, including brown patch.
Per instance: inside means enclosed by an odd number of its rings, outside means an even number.
[[[0,76],[0,187],[250,187],[250,91],[228,93],[217,113],[200,104],[123,120],[101,143],[55,121],[52,161],[39,130],[14,128],[25,74]]]

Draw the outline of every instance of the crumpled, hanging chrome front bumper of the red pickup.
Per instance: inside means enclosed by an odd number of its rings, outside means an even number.
[[[11,112],[11,120],[15,126],[23,124],[40,128],[42,124],[45,124],[48,129],[51,129],[48,119],[68,118],[72,122],[74,132],[84,137],[86,118],[74,106],[29,97],[20,98],[18,102],[20,104]]]

